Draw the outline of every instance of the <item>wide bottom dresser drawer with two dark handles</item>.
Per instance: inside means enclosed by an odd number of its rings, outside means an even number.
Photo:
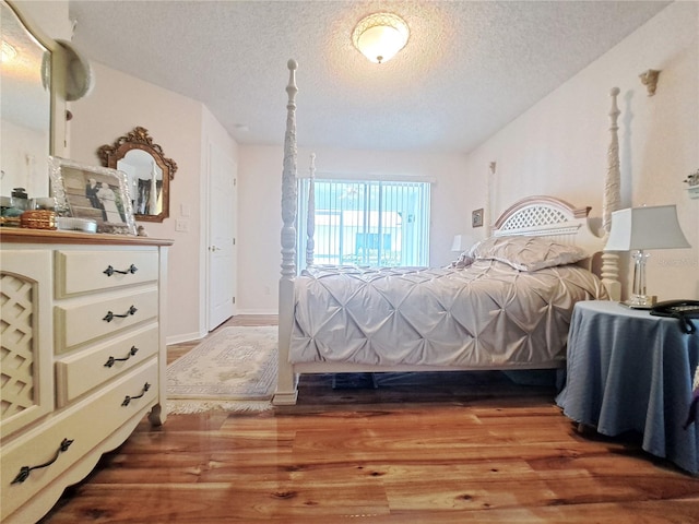
[[[150,388],[144,392],[146,383]],[[0,452],[0,504],[3,516],[28,501],[129,419],[142,417],[156,401],[157,392],[157,360],[152,359],[117,379],[98,394],[75,403],[42,427],[3,445]],[[143,396],[133,398],[141,393]],[[132,396],[128,404],[125,403],[127,395]],[[72,440],[72,443],[61,452],[63,439]],[[54,457],[56,462],[51,465],[32,469],[23,481],[12,484],[22,467],[43,465]]]

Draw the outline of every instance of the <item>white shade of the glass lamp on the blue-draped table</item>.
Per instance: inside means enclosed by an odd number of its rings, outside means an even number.
[[[675,205],[629,207],[612,213],[605,251],[690,248],[677,221]]]

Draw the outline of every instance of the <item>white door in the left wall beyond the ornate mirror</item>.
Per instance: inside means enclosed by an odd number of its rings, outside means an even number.
[[[235,160],[209,144],[209,331],[235,314],[237,172]]]

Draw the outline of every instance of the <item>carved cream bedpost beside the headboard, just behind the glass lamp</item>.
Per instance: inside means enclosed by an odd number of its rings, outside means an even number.
[[[606,242],[609,230],[612,228],[612,212],[619,209],[621,196],[621,175],[619,172],[619,138],[617,118],[619,117],[619,108],[616,104],[616,97],[619,95],[619,88],[613,87],[609,92],[612,97],[612,109],[609,110],[609,133],[612,141],[607,148],[607,175],[604,179],[604,199],[602,202],[602,229],[604,241]],[[619,255],[605,251],[602,253],[602,283],[609,293],[612,300],[621,299],[621,283],[619,282]]]

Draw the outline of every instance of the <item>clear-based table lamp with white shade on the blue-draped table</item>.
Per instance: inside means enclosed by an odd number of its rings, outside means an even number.
[[[605,251],[633,251],[633,289],[621,302],[629,308],[650,309],[654,298],[645,294],[647,249],[690,248],[677,221],[675,205],[629,207],[612,213],[612,230]]]

